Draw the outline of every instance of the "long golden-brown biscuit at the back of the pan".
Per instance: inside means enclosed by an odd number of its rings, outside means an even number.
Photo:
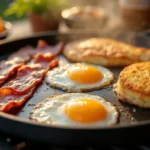
[[[63,54],[72,62],[87,62],[108,67],[150,60],[150,51],[146,48],[105,38],[90,38],[68,43]]]

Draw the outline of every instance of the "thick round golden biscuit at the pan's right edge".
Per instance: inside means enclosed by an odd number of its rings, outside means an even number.
[[[119,100],[150,108],[150,62],[125,67],[114,86]]]

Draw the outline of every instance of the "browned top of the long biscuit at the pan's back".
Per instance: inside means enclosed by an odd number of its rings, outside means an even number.
[[[107,59],[125,58],[134,61],[150,60],[150,52],[145,48],[138,48],[105,38],[90,38],[69,43],[65,50],[65,55],[75,55],[77,58],[85,56],[101,56]]]

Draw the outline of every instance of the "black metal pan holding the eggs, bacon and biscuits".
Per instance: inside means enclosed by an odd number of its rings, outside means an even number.
[[[82,35],[80,38],[94,35]],[[46,40],[54,45],[58,39],[65,42],[78,38],[78,34],[56,34],[46,33],[0,44],[0,59],[5,59],[10,53],[26,45],[37,44],[39,39]],[[62,59],[60,57],[60,59]],[[109,68],[117,79],[123,68]],[[39,124],[29,120],[29,113],[35,104],[54,93],[64,93],[61,90],[50,88],[42,83],[34,93],[33,97],[22,107],[12,110],[12,114],[0,114],[0,130],[16,136],[45,142],[49,144],[63,145],[93,145],[93,144],[129,144],[147,143],[150,138],[150,110],[142,109],[129,104],[124,104],[116,99],[115,93],[110,85],[104,89],[88,92],[100,95],[110,101],[120,112],[119,122],[115,126],[101,128],[71,128],[56,125]]]

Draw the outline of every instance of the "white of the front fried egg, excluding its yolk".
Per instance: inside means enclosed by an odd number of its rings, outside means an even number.
[[[97,121],[94,123],[78,123],[71,120],[63,111],[60,109],[64,104],[68,104],[71,101],[88,98],[98,101],[102,104],[106,111],[107,116],[104,120]],[[117,123],[119,113],[117,109],[104,98],[100,96],[84,94],[84,93],[66,93],[62,95],[55,95],[46,98],[42,103],[36,106],[31,114],[30,118],[40,123],[55,124],[63,126],[75,126],[75,127],[101,127],[106,125],[113,125]]]

